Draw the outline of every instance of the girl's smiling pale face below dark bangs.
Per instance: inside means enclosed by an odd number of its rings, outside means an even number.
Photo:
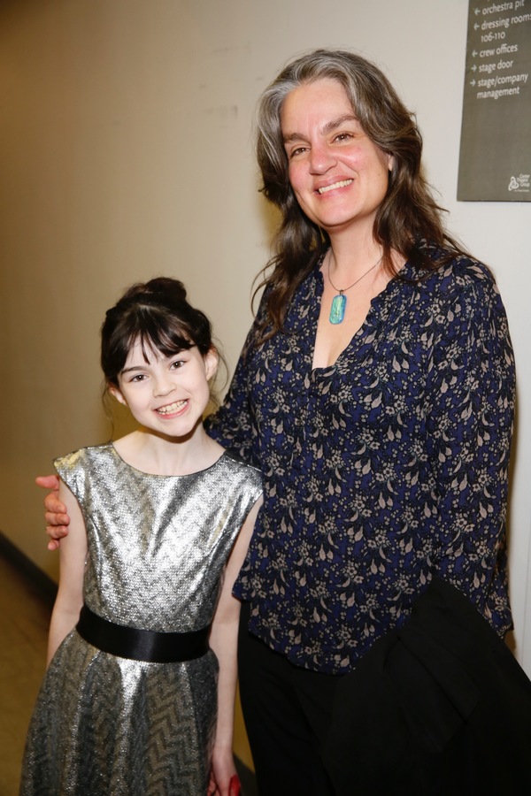
[[[209,380],[217,366],[213,348],[206,356],[196,346],[165,356],[142,349],[136,341],[119,374],[119,386],[111,385],[109,391],[143,428],[169,437],[189,437],[203,421],[210,400]]]

